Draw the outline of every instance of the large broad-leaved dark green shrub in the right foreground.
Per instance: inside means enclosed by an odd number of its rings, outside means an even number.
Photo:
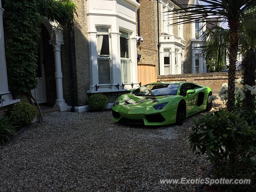
[[[188,138],[190,149],[196,154],[207,154],[212,164],[218,162],[218,170],[213,172],[216,178],[250,178],[256,165],[255,119],[252,111],[227,110],[208,113],[197,121],[194,119]]]

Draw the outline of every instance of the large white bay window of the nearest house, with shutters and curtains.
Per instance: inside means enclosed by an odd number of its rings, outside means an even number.
[[[118,92],[138,84],[135,0],[87,0],[90,90]],[[136,85],[137,86],[137,85]]]

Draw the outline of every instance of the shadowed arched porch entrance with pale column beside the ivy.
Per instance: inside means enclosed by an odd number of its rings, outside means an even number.
[[[56,22],[42,18],[41,38],[38,44],[38,86],[32,90],[38,103],[60,111],[69,109],[63,98],[61,45],[62,28]]]

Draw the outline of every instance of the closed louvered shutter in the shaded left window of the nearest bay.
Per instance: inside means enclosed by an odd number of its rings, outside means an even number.
[[[99,84],[110,84],[110,57],[98,57]]]

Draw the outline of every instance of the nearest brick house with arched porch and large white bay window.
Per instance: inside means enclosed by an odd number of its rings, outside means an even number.
[[[136,0],[73,1],[78,18],[71,25],[70,38],[67,27],[42,18],[38,86],[32,94],[39,103],[61,111],[74,106],[81,112],[88,110],[91,94],[105,94],[112,103],[132,86],[139,86],[136,11],[140,4]],[[9,93],[3,11],[0,8],[0,94]],[[4,104],[16,102],[10,94],[2,97]]]

